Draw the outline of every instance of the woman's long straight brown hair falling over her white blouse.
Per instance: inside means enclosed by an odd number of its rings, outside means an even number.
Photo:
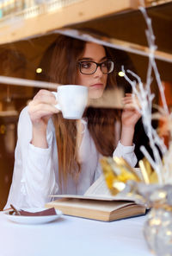
[[[52,63],[49,77],[59,84],[77,83],[77,61],[82,56],[86,42],[64,35],[58,35],[52,52]],[[113,59],[110,50],[105,48],[107,58]],[[108,74],[107,89],[116,86],[115,74]],[[96,149],[104,156],[112,156],[114,151],[114,122],[117,118],[115,110],[89,107],[85,112],[88,128],[95,142]],[[54,116],[58,146],[58,177],[61,184],[67,182],[68,176],[74,179],[81,172],[77,160],[77,121]]]

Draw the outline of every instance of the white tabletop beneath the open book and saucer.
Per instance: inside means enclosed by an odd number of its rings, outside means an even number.
[[[44,225],[21,225],[0,213],[0,256],[152,256],[144,241],[144,220],[63,216]]]

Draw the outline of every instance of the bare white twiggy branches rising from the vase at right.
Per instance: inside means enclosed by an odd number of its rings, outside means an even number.
[[[163,138],[160,138],[157,130],[152,127],[152,101],[155,97],[153,93],[151,93],[151,82],[152,71],[155,74],[157,80],[157,86],[162,98],[163,107],[159,106],[159,118],[163,115],[165,116],[166,122],[170,122],[168,127],[171,127],[172,117],[171,113],[169,113],[169,109],[167,106],[167,102],[165,99],[164,94],[164,87],[160,79],[160,75],[157,70],[157,64],[155,61],[155,51],[157,46],[155,45],[155,36],[153,34],[153,29],[151,25],[151,19],[147,16],[146,10],[144,8],[144,3],[142,1],[142,6],[139,8],[144,16],[144,20],[147,24],[147,29],[145,31],[148,46],[150,49],[149,52],[149,63],[147,69],[147,76],[146,76],[146,84],[143,85],[142,80],[137,74],[134,74],[131,70],[126,70],[122,67],[122,71],[125,74],[125,79],[130,83],[132,86],[132,93],[138,98],[139,106],[136,106],[138,112],[142,115],[144,131],[146,132],[149,141],[151,150],[153,152],[153,158],[151,157],[150,153],[145,149],[144,146],[140,147],[140,150],[143,152],[144,157],[151,163],[152,168],[157,172],[158,182],[163,184],[165,182],[172,182],[172,174],[170,174],[170,168],[172,167],[171,157],[172,157],[172,144],[169,146],[169,150],[167,149],[166,145],[163,142]],[[131,80],[127,74],[131,74],[134,80]],[[154,115],[155,118],[155,115]],[[163,159],[162,159],[163,156]]]

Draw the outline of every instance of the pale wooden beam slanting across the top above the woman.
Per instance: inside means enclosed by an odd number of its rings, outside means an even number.
[[[8,23],[0,23],[0,44],[20,41],[78,22],[137,9],[138,4],[138,0],[81,0],[53,12],[45,10],[43,14],[33,18],[22,19],[11,16]]]

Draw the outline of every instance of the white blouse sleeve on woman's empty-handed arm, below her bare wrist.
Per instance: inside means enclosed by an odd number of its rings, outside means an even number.
[[[135,144],[132,146],[124,146],[123,144],[117,144],[116,149],[114,150],[113,157],[123,157],[127,163],[129,163],[132,167],[136,165],[138,159],[134,153]]]

